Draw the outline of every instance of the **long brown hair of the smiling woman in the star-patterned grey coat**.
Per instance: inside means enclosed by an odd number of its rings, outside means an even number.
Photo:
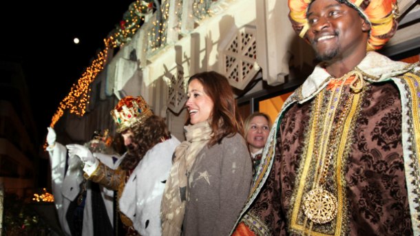
[[[227,78],[218,72],[201,72],[191,76],[188,84],[193,80],[200,81],[204,92],[214,104],[211,118],[209,119],[212,130],[209,146],[213,146],[216,142],[220,143],[224,137],[234,136],[235,133],[240,133],[243,136],[242,118],[238,112],[232,87],[229,85]]]

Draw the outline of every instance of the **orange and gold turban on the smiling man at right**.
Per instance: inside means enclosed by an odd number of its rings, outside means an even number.
[[[288,14],[293,30],[304,38],[309,28],[306,11],[315,0],[288,0]],[[379,50],[394,36],[397,31],[398,7],[397,0],[337,0],[359,12],[360,16],[370,23],[370,35],[367,49]]]

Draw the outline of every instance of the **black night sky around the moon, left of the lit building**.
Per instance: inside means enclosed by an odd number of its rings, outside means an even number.
[[[59,103],[133,1],[8,1],[1,7],[0,60],[23,67],[40,142]]]

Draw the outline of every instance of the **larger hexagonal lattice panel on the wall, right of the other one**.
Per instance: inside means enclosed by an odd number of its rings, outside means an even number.
[[[257,58],[255,29],[249,27],[239,29],[222,48],[220,63],[224,75],[233,87],[244,89],[258,73],[258,69],[255,68]]]

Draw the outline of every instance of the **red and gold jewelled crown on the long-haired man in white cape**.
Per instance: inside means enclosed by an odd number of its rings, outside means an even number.
[[[147,118],[153,116],[153,112],[142,96],[126,96],[111,111],[111,116],[116,123],[116,131],[121,133],[136,125],[143,125]]]

